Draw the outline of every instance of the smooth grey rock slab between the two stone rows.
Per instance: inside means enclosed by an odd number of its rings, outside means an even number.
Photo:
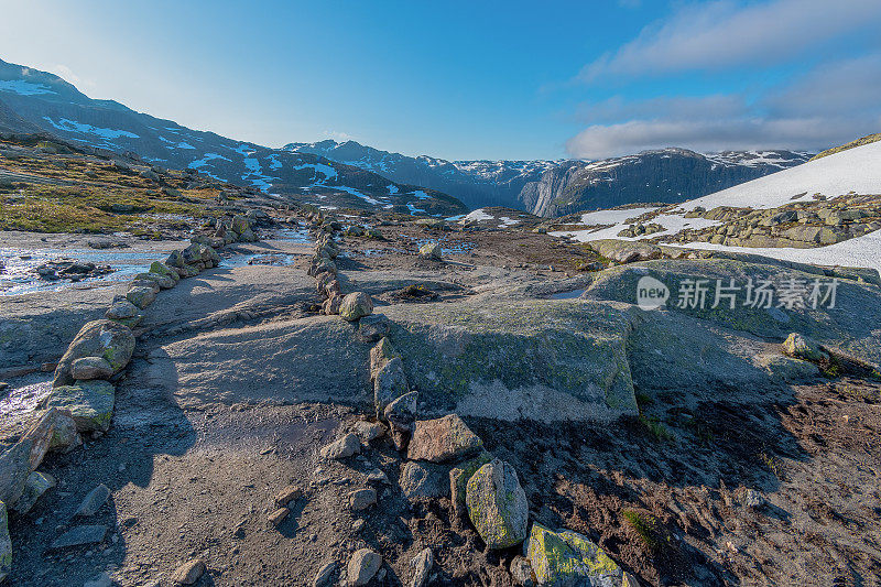
[[[173,290],[175,291],[175,290]],[[369,400],[370,346],[337,316],[217,330],[151,354],[141,379],[182,406]]]

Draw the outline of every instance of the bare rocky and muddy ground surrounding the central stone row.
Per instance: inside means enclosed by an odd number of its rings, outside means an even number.
[[[320,221],[338,224],[341,292],[368,294],[371,315],[388,318],[377,336],[365,318],[320,312],[313,243],[260,238],[267,229],[221,256],[287,262],[221,263],[161,291],[134,327],[131,361],[111,378],[112,424],[48,453],[39,470],[56,487],[10,512],[8,584],[529,584],[523,537],[490,547],[498,536],[482,510],[452,493],[450,469],[467,469],[460,461],[478,450],[437,458],[444,446],[420,444],[427,424],[406,448],[394,414],[381,414],[392,432],[377,423],[371,349],[382,334],[400,352],[389,363],[400,365],[404,391],[418,391],[417,421],[461,415],[515,475],[522,523],[592,541],[631,575],[618,570],[611,584],[866,585],[881,574],[877,285],[845,280],[838,314],[643,313],[629,281],[642,274],[801,270],[645,261],[663,257],[654,250],[621,253],[612,264],[624,264],[607,269],[618,251],[563,242],[527,218],[402,220],[337,211]],[[440,259],[417,254],[434,242]],[[64,343],[19,335],[51,350],[10,366],[19,371],[4,376],[3,405],[47,394],[40,363],[57,360],[95,317],[88,308],[120,292],[80,293],[3,298],[4,319],[72,307],[58,318],[72,330]],[[782,354],[791,331],[826,349],[819,365]],[[26,427],[19,416],[4,425],[9,444]],[[357,453],[323,452],[347,434]],[[77,515],[101,485],[107,498],[93,496],[96,511]],[[53,547],[84,525],[104,533]]]

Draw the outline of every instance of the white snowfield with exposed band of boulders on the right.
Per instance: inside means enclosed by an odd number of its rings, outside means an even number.
[[[881,142],[841,151],[679,205],[581,215],[581,242],[648,240],[881,271]]]

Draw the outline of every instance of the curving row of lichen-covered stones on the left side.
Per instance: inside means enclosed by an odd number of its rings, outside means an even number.
[[[116,396],[110,380],[131,360],[135,345],[132,328],[143,320],[143,309],[156,300],[161,290],[174,287],[181,279],[216,267],[220,261],[216,249],[232,242],[255,241],[249,217],[257,219],[259,215],[236,214],[231,218],[219,218],[213,237],[196,235],[188,247],[172,252],[164,263],[154,261],[148,272],[132,279],[124,296],[117,296],[105,313],[105,319],[86,323],[67,347],[55,368],[52,391],[41,405],[45,412],[18,443],[0,455],[0,583],[12,568],[8,509],[26,513],[55,486],[51,475],[36,470],[47,452],[73,450],[83,444],[81,434],[90,433],[97,438],[110,427]],[[98,486],[86,497],[86,501],[96,501],[99,498],[93,494],[104,496],[99,503],[90,506],[96,511],[109,497],[107,488],[100,491],[102,487]],[[99,529],[104,526],[75,526],[53,543],[53,547],[81,544],[77,542],[79,534]],[[104,537],[104,532],[100,533]]]

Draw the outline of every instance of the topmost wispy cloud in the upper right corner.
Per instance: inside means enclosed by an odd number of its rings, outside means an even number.
[[[729,0],[686,4],[588,64],[583,80],[781,63],[824,41],[881,23],[879,0]]]

